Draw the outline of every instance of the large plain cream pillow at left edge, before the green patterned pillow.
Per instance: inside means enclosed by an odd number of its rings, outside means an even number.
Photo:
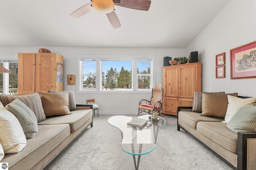
[[[27,144],[18,119],[3,105],[0,106],[0,143],[4,153],[18,153]]]

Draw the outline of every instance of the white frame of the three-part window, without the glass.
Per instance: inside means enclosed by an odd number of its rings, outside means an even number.
[[[96,90],[83,90],[82,89],[82,62],[84,60],[96,60]],[[132,60],[132,90],[101,90],[102,88],[102,62],[101,60]],[[137,78],[137,61],[151,61],[151,77],[150,77],[150,89],[138,90],[138,78]],[[78,84],[77,93],[151,93],[153,84],[155,84],[155,55],[77,55],[77,75]],[[145,75],[145,74],[144,74]]]

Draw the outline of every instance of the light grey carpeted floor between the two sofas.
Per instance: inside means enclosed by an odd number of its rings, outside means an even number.
[[[120,131],[108,124],[111,116],[94,116],[94,127],[88,127],[48,170],[133,170],[132,155],[121,148]],[[158,145],[141,156],[140,170],[232,170],[186,132],[177,131],[176,116],[164,118],[168,123]]]

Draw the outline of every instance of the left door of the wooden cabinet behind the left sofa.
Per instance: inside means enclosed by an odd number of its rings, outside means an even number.
[[[35,92],[35,53],[18,53],[18,94]]]

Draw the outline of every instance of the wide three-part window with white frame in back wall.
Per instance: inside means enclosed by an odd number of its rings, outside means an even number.
[[[77,55],[78,93],[151,92],[153,55]]]

